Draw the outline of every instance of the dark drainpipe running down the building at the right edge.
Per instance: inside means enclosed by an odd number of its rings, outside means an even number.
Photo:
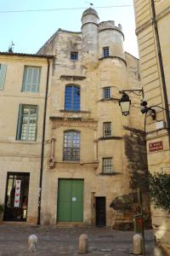
[[[164,102],[165,102],[165,111],[166,111],[166,118],[167,118],[167,134],[169,139],[169,148],[170,148],[170,114],[169,114],[169,104],[167,99],[167,86],[165,81],[165,73],[163,69],[163,61],[161,56],[161,44],[160,44],[160,38],[159,33],[157,29],[157,22],[156,22],[156,8],[154,0],[151,0],[151,9],[152,9],[152,22],[155,29],[156,34],[156,46],[157,46],[157,54],[158,54],[158,60],[160,65],[160,71],[161,71],[161,82],[162,82],[162,89],[163,89],[163,96],[164,96]]]

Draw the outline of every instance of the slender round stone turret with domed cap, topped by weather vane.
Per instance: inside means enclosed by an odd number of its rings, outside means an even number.
[[[92,9],[86,9],[82,14],[82,56],[84,65],[88,69],[94,69],[98,65],[98,35],[99,16]]]

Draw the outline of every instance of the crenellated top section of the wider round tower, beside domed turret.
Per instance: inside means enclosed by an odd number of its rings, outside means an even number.
[[[115,21],[108,20],[99,23],[99,58],[105,57],[104,48],[109,49],[109,56],[125,59],[123,50],[124,35],[122,26],[115,26]]]

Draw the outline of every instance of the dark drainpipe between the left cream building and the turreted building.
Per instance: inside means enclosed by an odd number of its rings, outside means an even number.
[[[40,180],[39,180],[39,191],[38,191],[37,225],[41,224],[42,173],[43,173],[45,128],[46,128],[45,125],[46,125],[47,104],[48,104],[49,67],[50,67],[50,62],[48,59],[48,73],[47,73],[47,81],[46,81],[45,102],[44,102],[44,111],[43,111],[43,124],[42,124],[42,153],[41,153]]]

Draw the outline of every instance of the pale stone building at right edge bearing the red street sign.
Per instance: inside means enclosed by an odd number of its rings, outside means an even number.
[[[146,118],[149,170],[170,173],[170,2],[134,0],[133,3],[144,99],[156,111],[155,119],[149,113]],[[168,248],[162,255],[169,255],[170,215],[154,207],[151,214],[156,242]]]

